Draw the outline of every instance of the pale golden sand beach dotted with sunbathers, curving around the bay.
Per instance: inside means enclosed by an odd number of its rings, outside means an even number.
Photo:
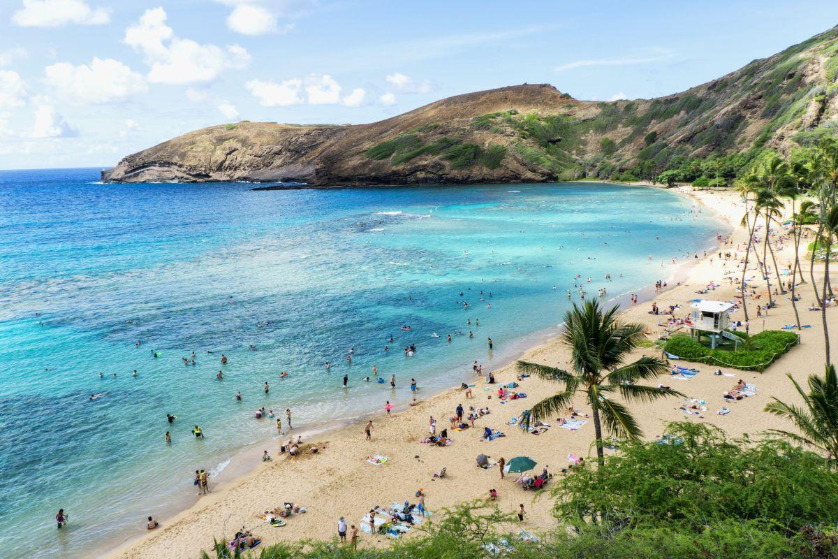
[[[744,255],[747,242],[747,232],[738,225],[744,213],[744,204],[737,193],[691,193],[688,189],[683,190],[685,194],[690,194],[703,204],[705,210],[715,210],[730,223],[731,229],[735,228],[731,240],[722,246],[721,250],[736,251],[737,258],[728,261],[726,266],[725,261],[720,261],[717,251],[712,255],[708,254],[706,259],[691,267],[689,277],[682,285],[657,294],[654,300],[661,309],[668,308],[670,304],[681,305],[680,310],[675,311],[676,316],[688,313],[687,302],[694,298],[724,301],[734,297],[735,287],[724,277],[727,273],[741,273],[737,261]],[[719,231],[726,236],[728,232],[729,230]],[[761,237],[763,234],[763,230],[759,230],[757,235]],[[802,241],[803,251],[807,244],[807,240]],[[782,248],[777,253],[777,261],[783,268],[793,261],[794,246],[791,241],[778,241],[778,246]],[[713,256],[712,259],[710,256]],[[752,258],[751,261],[753,260]],[[808,278],[808,260],[804,262],[804,268],[804,277]],[[748,275],[759,277],[756,270],[748,272]],[[784,277],[785,280],[787,277]],[[707,295],[696,295],[696,291],[706,287],[709,282],[716,282],[721,287]],[[799,287],[799,290],[803,295],[799,303],[801,322],[812,326],[802,331],[800,346],[791,349],[762,374],[723,369],[732,376],[716,376],[712,374],[716,367],[697,365],[701,373],[691,380],[662,376],[660,382],[687,396],[705,400],[707,411],[701,413],[702,417],[687,416],[680,410],[683,401],[678,398],[650,404],[634,403],[631,409],[639,418],[646,437],[660,435],[665,423],[673,421],[709,422],[724,428],[733,436],[746,432],[757,433],[769,427],[789,428],[782,420],[763,412],[763,407],[771,396],[778,396],[786,401],[798,401],[785,373],[791,373],[795,379],[804,381],[806,375],[811,373],[822,374],[821,364],[824,362],[820,313],[805,310],[814,305],[815,297],[808,283]],[[764,292],[764,289],[762,291]],[[751,334],[763,328],[779,329],[784,324],[794,323],[789,296],[780,295],[777,302],[778,307],[771,311],[771,316],[764,319],[755,318],[756,304],[749,303],[748,311],[752,317]],[[766,301],[763,299],[758,303],[764,305]],[[664,317],[650,315],[649,308],[651,303],[640,303],[629,308],[623,318],[648,324],[652,337],[657,338],[661,330],[658,321]],[[833,310],[830,309],[828,313],[830,323],[838,322],[835,321]],[[742,311],[734,313],[733,318],[743,319]],[[557,316],[556,322],[560,320],[561,317]],[[836,327],[838,324],[832,326]],[[498,343],[498,340],[495,340],[495,343]],[[654,353],[654,349],[644,349],[632,357],[636,358],[644,351]],[[557,366],[565,366],[568,360],[566,348],[558,339],[530,349],[525,353],[524,359]],[[495,377],[499,384],[514,381],[515,366],[510,365],[495,371]],[[757,396],[738,402],[722,400],[722,391],[728,390],[740,378],[758,386]],[[241,525],[246,525],[254,535],[261,538],[263,546],[282,540],[328,539],[337,535],[337,520],[340,516],[345,516],[349,524],[359,525],[365,513],[374,505],[391,505],[405,499],[415,502],[414,492],[419,488],[424,489],[429,510],[440,510],[442,507],[450,507],[470,499],[485,498],[489,489],[497,489],[498,505],[502,510],[513,512],[520,503],[525,505],[525,529],[537,531],[556,525],[556,520],[551,516],[552,503],[549,497],[532,501],[533,494],[524,492],[512,479],[499,479],[499,468],[477,468],[475,457],[479,453],[485,453],[494,461],[500,457],[509,460],[515,456],[530,456],[538,462],[536,473],[541,472],[542,466],[549,466],[552,473],[559,474],[561,468],[568,465],[568,453],[584,457],[592,453],[592,422],[587,422],[578,431],[556,427],[554,422],[551,429],[535,437],[522,432],[518,427],[507,425],[507,422],[510,417],[520,415],[521,411],[542,397],[558,391],[559,386],[533,378],[525,379],[520,382],[518,390],[525,391],[529,397],[500,405],[496,396],[499,385],[492,391],[484,391],[484,379],[476,378],[474,382],[477,386],[473,389],[472,400],[467,400],[462,391],[456,390],[421,401],[417,406],[392,417],[385,417],[384,411],[380,411],[373,417],[371,442],[365,441],[362,422],[320,437],[320,447],[325,445],[326,448],[314,455],[297,459],[282,458],[278,454],[277,444],[274,443],[272,448],[269,448],[274,462],[260,465],[251,474],[235,479],[229,484],[212,488],[214,490],[211,494],[200,498],[189,510],[184,510],[173,518],[160,519],[161,528],[128,541],[126,545],[112,551],[111,556],[126,559],[156,559],[160,556],[193,559],[199,555],[200,550],[209,550],[213,538],[230,538]],[[489,395],[493,395],[491,399]],[[428,417],[437,418],[439,432],[443,427],[448,427],[448,417],[453,415],[458,403],[463,403],[467,413],[468,406],[489,406],[491,414],[478,419],[475,422],[477,428],[464,432],[453,432],[449,429],[453,444],[447,448],[420,443],[427,435]],[[716,411],[722,406],[729,407],[730,414],[716,415]],[[590,408],[580,400],[577,402],[577,410],[584,413],[590,411]],[[489,443],[484,442],[481,440],[484,426],[499,429],[506,437]],[[254,452],[261,454],[261,451]],[[376,466],[366,462],[365,458],[370,454],[380,454],[390,459],[387,463]],[[447,468],[447,478],[433,481],[432,474],[443,467]],[[561,484],[561,474],[556,475],[551,484]],[[308,513],[293,515],[288,519],[287,526],[281,528],[266,525],[257,518],[263,511],[282,506],[286,501],[306,507]],[[138,524],[147,514],[147,511],[137,511]],[[370,536],[361,532],[360,536],[360,546],[385,545],[388,541],[388,538],[380,535]]]

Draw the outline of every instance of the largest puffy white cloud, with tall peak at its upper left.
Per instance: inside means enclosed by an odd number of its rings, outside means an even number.
[[[230,68],[243,68],[250,62],[247,50],[238,44],[224,49],[215,44],[199,44],[180,39],[166,25],[166,11],[151,8],[125,31],[125,43],[145,55],[151,66],[148,80],[164,84],[191,84],[215,80]]]

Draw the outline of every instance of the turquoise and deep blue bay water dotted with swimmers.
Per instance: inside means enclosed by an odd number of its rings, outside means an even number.
[[[577,274],[588,297],[634,292],[722,231],[674,193],[619,185],[253,192],[97,174],[0,173],[4,556],[86,556],[140,533],[194,499],[195,468],[276,439],[256,408],[291,408],[303,430],[403,407],[411,377],[427,396],[555,328]],[[361,380],[372,365],[396,391]]]

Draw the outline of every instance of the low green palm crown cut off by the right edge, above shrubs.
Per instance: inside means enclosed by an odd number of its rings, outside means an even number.
[[[771,431],[820,449],[834,465],[838,465],[835,462],[838,460],[838,375],[835,375],[834,365],[826,365],[825,369],[823,378],[818,375],[809,376],[808,394],[797,380],[787,375],[803,397],[804,406],[786,404],[772,398],[773,401],[765,406],[765,411],[789,419],[802,434],[781,429]]]

